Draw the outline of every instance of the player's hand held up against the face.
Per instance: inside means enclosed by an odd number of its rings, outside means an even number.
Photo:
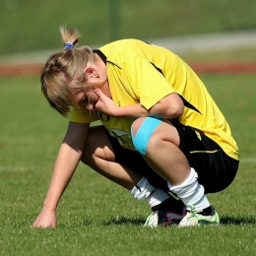
[[[98,96],[98,100],[95,104],[95,108],[102,113],[108,114],[110,116],[115,116],[116,111],[118,110],[118,106],[114,103],[114,101],[105,96],[100,89],[95,88],[96,96]]]

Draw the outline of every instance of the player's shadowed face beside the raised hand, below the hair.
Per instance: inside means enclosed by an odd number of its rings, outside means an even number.
[[[94,110],[98,96],[94,92],[93,88],[86,88],[85,91],[81,91],[76,95],[76,100],[78,104],[89,110]]]

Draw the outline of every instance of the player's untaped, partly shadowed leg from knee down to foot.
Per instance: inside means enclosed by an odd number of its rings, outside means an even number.
[[[171,211],[173,216],[167,217],[168,224],[180,221],[184,216],[184,205],[180,201],[174,200],[161,189],[152,186],[146,177],[142,177],[130,168],[115,162],[115,156],[111,144],[101,127],[92,127],[86,142],[84,154],[81,159],[91,166],[99,174],[112,180],[113,182],[127,188],[132,196],[139,201],[146,201],[152,211]],[[169,213],[169,212],[168,212]],[[162,224],[162,219],[158,219],[158,214],[153,215],[151,226]]]

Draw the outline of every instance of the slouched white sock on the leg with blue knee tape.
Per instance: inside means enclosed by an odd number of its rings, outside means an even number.
[[[188,178],[182,184],[171,186],[168,183],[169,190],[183,201],[187,210],[190,210],[191,205],[195,207],[195,211],[202,211],[210,206],[210,202],[205,195],[205,189],[197,180],[198,174],[191,168]]]

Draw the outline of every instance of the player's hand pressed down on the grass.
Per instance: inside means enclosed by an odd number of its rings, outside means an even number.
[[[37,216],[36,220],[32,224],[32,227],[46,228],[56,227],[57,218],[55,211],[46,211],[42,209],[41,213]]]

